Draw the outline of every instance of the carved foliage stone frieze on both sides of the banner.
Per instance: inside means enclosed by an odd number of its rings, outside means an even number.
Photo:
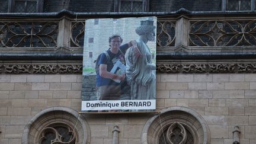
[[[255,73],[256,62],[157,62],[161,73]],[[0,73],[82,73],[82,62],[3,63]]]

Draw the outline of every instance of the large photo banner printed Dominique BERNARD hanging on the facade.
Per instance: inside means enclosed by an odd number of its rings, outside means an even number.
[[[85,21],[82,110],[156,108],[156,17]]]

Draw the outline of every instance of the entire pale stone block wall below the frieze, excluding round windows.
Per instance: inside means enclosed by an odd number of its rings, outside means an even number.
[[[211,143],[232,143],[235,125],[241,144],[256,143],[256,74],[157,75],[157,110],[189,107],[210,128]],[[25,124],[47,107],[81,108],[82,75],[0,75],[0,143],[21,143]],[[140,143],[152,114],[83,114],[91,143],[111,143],[119,126],[119,143]]]

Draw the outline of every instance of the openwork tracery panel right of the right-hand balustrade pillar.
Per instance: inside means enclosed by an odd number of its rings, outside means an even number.
[[[255,20],[190,21],[189,44],[190,46],[255,46],[255,23]]]

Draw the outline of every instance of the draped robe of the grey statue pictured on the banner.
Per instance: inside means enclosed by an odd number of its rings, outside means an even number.
[[[131,99],[155,100],[156,75],[155,65],[151,63],[151,52],[143,41],[137,40],[137,47],[142,56],[135,57],[133,47],[125,55],[126,79],[131,87]]]

